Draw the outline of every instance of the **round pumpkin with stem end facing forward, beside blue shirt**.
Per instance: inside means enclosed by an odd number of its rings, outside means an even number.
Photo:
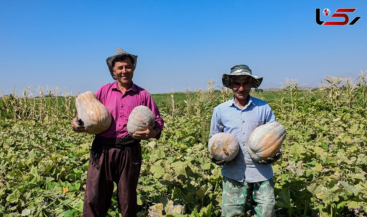
[[[236,157],[239,143],[232,134],[217,133],[209,139],[208,148],[216,160],[230,161]]]

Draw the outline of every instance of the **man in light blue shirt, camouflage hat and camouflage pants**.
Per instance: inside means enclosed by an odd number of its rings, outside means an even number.
[[[229,161],[211,160],[222,166],[223,197],[222,216],[239,216],[250,212],[255,216],[275,216],[275,195],[271,163],[276,156],[256,162],[247,153],[247,140],[258,126],[274,122],[275,115],[269,104],[250,96],[262,77],[252,75],[247,65],[235,65],[229,74],[223,74],[223,85],[233,90],[233,98],[213,110],[210,136],[226,132],[236,137],[240,144],[237,156]]]

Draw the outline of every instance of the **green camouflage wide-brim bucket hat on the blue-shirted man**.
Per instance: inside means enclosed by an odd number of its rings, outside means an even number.
[[[262,77],[259,76],[255,76],[252,75],[252,72],[250,70],[250,68],[247,65],[235,65],[232,68],[230,68],[230,73],[229,74],[223,74],[222,76],[222,83],[223,86],[232,89],[229,86],[229,79],[232,76],[239,76],[239,75],[247,75],[250,76],[252,78],[254,78],[254,83],[252,83],[251,88],[258,88],[262,82]]]

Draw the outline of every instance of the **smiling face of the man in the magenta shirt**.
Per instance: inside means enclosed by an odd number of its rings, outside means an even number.
[[[134,76],[134,65],[132,65],[131,60],[126,58],[120,62],[116,62],[114,69],[117,81],[123,86],[130,86],[132,77]]]

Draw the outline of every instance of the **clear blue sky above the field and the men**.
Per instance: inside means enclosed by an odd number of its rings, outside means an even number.
[[[355,25],[322,14],[338,8]],[[259,88],[367,70],[367,1],[1,1],[0,90],[30,85],[95,92],[112,83],[106,58],[138,55],[134,83],[151,93],[206,89],[236,64]],[[308,85],[306,85],[308,86]],[[19,92],[18,92],[19,94]]]

